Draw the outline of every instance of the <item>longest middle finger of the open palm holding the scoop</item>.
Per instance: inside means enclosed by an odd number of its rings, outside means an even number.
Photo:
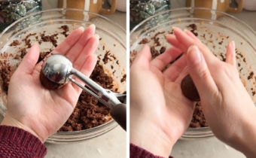
[[[87,29],[85,29],[78,42],[69,50],[68,53],[66,53],[66,56],[70,59],[71,62],[75,62],[81,51],[84,50],[84,47],[87,46],[90,38],[92,38],[95,33],[95,27],[96,26],[92,24]]]

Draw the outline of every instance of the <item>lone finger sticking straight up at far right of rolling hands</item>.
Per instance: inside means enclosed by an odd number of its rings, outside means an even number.
[[[226,62],[236,68],[236,47],[234,41],[230,41],[227,44]]]

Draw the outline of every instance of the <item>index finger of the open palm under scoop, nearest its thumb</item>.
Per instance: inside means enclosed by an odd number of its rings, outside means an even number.
[[[68,51],[77,43],[78,39],[81,37],[84,32],[84,27],[75,29],[64,41],[61,42],[52,53],[61,53],[66,55]]]

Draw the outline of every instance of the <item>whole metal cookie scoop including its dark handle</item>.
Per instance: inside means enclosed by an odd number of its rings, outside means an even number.
[[[44,73],[50,81],[57,84],[66,84],[72,81],[74,84],[81,87],[90,95],[94,96],[99,102],[111,108],[111,117],[124,129],[126,130],[126,104],[122,104],[120,100],[123,99],[124,103],[126,100],[126,94],[113,93],[111,90],[105,90],[103,87],[96,84],[89,77],[82,74],[80,71],[72,67],[72,62],[60,54],[53,54],[47,59],[44,59],[41,71]],[[86,84],[87,87],[82,86],[72,78],[72,74],[78,77],[81,81]],[[118,100],[119,99],[119,100]]]

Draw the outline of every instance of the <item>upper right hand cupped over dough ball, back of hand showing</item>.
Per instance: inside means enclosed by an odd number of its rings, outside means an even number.
[[[256,155],[256,109],[236,70],[234,42],[222,62],[191,32],[174,29],[170,44],[187,55],[187,67],[200,94],[203,114],[212,132],[248,157]]]

